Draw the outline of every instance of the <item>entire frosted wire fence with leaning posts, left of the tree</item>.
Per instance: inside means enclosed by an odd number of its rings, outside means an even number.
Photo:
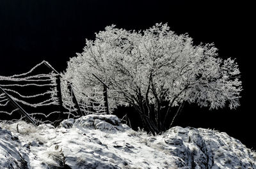
[[[0,91],[0,121],[24,119],[26,115],[20,114],[24,110],[36,124],[50,123],[58,126],[63,119],[108,112],[104,99],[106,94],[97,92],[97,89],[93,97],[77,92],[76,86],[63,80],[58,71],[46,61],[36,64],[26,73],[0,76],[0,87],[3,90]]]

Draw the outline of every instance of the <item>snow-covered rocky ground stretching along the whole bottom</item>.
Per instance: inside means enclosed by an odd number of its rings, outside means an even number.
[[[147,135],[115,115],[38,127],[0,124],[0,168],[256,168],[256,154],[211,129],[174,127]]]

